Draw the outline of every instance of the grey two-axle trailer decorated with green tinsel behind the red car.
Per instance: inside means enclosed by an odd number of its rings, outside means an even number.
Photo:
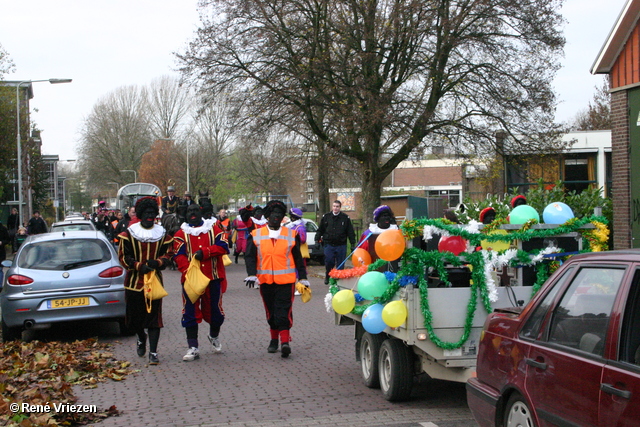
[[[422,221],[418,225],[424,223]],[[447,234],[455,234],[457,227],[443,225],[440,220],[426,220],[426,223],[429,227],[444,227],[446,230],[443,232]],[[519,231],[520,227],[503,226],[509,229],[510,234],[505,235],[505,241],[510,241],[510,247],[499,253],[480,249],[479,245],[459,256],[438,251],[422,251],[424,254],[421,255],[416,252],[420,249],[408,248],[403,253],[396,277],[403,271],[403,262],[430,260],[434,265],[427,263],[422,269],[421,280],[402,286],[396,283],[397,291],[393,292],[394,288],[391,294],[387,293],[375,301],[357,302],[349,313],[334,312],[336,325],[355,327],[355,355],[367,387],[380,388],[389,401],[403,401],[409,398],[414,376],[418,374],[466,382],[475,373],[477,347],[487,315],[498,308],[522,310],[541,286],[540,282],[549,276],[551,264],[582,251],[582,231],[594,228],[587,220],[576,221],[571,227],[540,224],[527,231]],[[556,234],[556,230],[559,233]],[[407,236],[406,229],[403,231],[408,239],[415,237]],[[475,244],[486,236],[474,236],[474,233],[462,230],[460,234]],[[509,240],[512,236],[513,240]],[[555,246],[558,242],[567,248]],[[528,251],[523,249],[523,244]],[[532,248],[532,244],[538,247]],[[380,265],[379,261],[373,263],[369,271]],[[542,268],[546,269],[546,274],[539,273]],[[446,271],[444,275],[439,274],[445,277],[433,277],[438,276],[434,274],[438,271]],[[345,277],[349,272],[338,273],[335,270],[331,274],[343,277],[331,280],[330,292],[334,296],[341,290],[357,291],[360,277]],[[490,301],[488,293],[491,294]],[[374,303],[388,304],[391,301],[404,303],[407,312],[405,322],[397,327],[386,326],[380,333],[368,332],[363,326],[363,316],[367,312],[362,309]]]

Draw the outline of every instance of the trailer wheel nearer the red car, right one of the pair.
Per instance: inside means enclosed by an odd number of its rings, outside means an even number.
[[[389,338],[380,347],[380,388],[390,402],[409,399],[413,388],[412,354],[398,339]]]

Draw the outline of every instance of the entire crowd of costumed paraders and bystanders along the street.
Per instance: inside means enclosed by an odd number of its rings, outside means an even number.
[[[321,243],[324,247],[325,284],[328,284],[329,272],[344,268],[348,257],[347,242],[351,249],[368,250],[374,260],[376,237],[388,229],[398,228],[391,208],[379,206],[373,212],[373,223],[364,230],[356,246],[351,219],[341,211],[341,202],[335,200],[331,212],[320,220],[315,242],[307,242],[302,210],[287,210],[279,200],[269,201],[264,207],[249,204],[240,209],[234,219],[229,218],[224,208],[214,215],[208,193],[201,193],[198,202],[193,201],[188,192],[184,198],[178,198],[174,187],[168,187],[167,196],[161,201],[143,197],[124,213],[108,209],[104,201],[99,202],[92,214],[83,212],[83,216],[93,221],[96,229],[118,248],[120,263],[126,269],[126,327],[137,335],[138,356],[144,357],[148,347],[151,365],[159,363],[162,299],[148,304],[143,292],[145,276],[153,273],[162,283],[163,270],[177,268],[180,271],[182,326],[187,344],[183,360],[190,362],[200,358],[198,329],[203,320],[209,324],[207,339],[214,352],[222,351],[220,332],[225,320],[222,296],[227,288],[225,264],[232,251],[236,264],[238,257],[243,255],[247,273],[245,284],[259,289],[265,308],[270,331],[267,352],[276,353],[280,348],[281,356],[286,358],[291,354],[293,301],[300,295],[296,286],[309,286],[306,268],[309,244]],[[511,205],[515,207],[521,203],[526,203],[526,199],[517,196]],[[495,214],[489,207],[480,212],[479,219],[488,224],[495,219]],[[159,220],[171,216],[175,219],[175,227]],[[453,211],[445,212],[445,218],[458,222]],[[6,258],[5,245],[11,244],[16,251],[27,235],[47,232],[47,225],[38,211],[34,212],[27,227],[23,227],[14,208],[8,225],[7,228],[0,222],[0,261]],[[195,299],[184,286],[187,273],[194,265],[208,280],[203,293]]]

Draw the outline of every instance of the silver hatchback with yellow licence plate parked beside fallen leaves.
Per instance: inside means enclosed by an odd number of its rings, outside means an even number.
[[[11,261],[0,292],[2,339],[53,323],[109,320],[124,326],[125,271],[100,231],[29,236]]]

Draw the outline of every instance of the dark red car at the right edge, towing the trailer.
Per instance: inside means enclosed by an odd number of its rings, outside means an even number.
[[[574,256],[489,315],[467,402],[481,427],[640,425],[640,250]]]

